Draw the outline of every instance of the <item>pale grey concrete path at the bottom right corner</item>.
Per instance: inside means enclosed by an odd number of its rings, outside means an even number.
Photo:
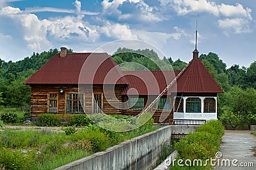
[[[256,138],[250,133],[250,131],[225,131],[220,146],[223,157],[219,159],[219,166],[217,159],[215,170],[256,169],[256,157],[253,152],[253,147],[256,147]],[[225,166],[228,162],[230,166]]]

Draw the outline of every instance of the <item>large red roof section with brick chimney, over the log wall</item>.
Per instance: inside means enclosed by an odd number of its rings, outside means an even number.
[[[111,76],[106,80],[106,76]],[[60,53],[54,55],[27,81],[32,84],[126,84],[122,70],[108,53]]]

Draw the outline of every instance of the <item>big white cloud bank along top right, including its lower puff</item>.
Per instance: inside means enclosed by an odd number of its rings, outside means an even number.
[[[171,6],[178,15],[209,13],[218,17],[218,27],[227,32],[250,32],[252,10],[242,4],[217,4],[207,0],[159,0],[161,6]],[[228,25],[229,24],[229,25]]]

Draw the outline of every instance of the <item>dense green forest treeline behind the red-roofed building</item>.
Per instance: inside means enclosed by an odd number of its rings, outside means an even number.
[[[0,105],[29,108],[30,88],[23,85],[24,81],[58,52],[55,48],[33,53],[17,62],[0,59]],[[181,70],[187,65],[180,59],[173,61],[172,57],[159,59],[157,53],[149,49],[118,48],[111,57],[124,70]],[[223,122],[256,124],[256,61],[249,67],[234,64],[227,68],[212,52],[200,55],[200,60],[225,92],[218,96],[218,117]]]

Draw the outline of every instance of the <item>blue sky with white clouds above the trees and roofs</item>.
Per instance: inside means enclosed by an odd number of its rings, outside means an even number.
[[[61,46],[93,52],[118,39],[139,39],[188,62],[197,19],[200,53],[248,67],[256,60],[255,12],[254,0],[1,0],[0,58],[15,61]]]

